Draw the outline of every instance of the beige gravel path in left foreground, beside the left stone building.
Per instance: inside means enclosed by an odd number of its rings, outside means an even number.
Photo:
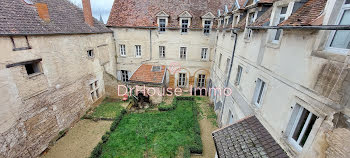
[[[86,158],[112,121],[81,120],[41,158]]]

